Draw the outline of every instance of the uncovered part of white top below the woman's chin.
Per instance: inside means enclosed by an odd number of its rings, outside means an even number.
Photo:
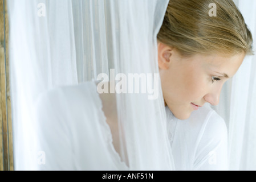
[[[165,110],[176,170],[228,169],[226,124],[216,111],[203,106],[180,120]]]

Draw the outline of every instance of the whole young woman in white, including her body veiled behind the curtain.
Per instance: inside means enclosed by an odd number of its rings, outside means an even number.
[[[213,2],[217,16],[209,16]],[[252,53],[252,37],[241,13],[231,0],[172,0],[157,40],[175,169],[228,169],[225,122],[204,104],[218,104],[222,85]],[[36,109],[40,111],[39,146],[58,155],[47,156],[40,168],[131,169],[132,164],[119,158],[115,98],[115,94],[96,93],[95,82],[43,94]],[[134,158],[140,160],[136,154]]]

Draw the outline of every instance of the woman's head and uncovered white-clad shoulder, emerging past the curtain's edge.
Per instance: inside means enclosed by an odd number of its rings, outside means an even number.
[[[233,1],[170,1],[159,40],[159,69],[176,169],[228,169],[224,83],[252,53],[252,37]],[[185,119],[185,120],[184,120]],[[181,121],[184,120],[184,121]]]

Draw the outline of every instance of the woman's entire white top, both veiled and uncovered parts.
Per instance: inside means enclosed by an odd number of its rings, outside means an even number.
[[[43,93],[36,104],[41,170],[128,170],[112,144],[94,82]],[[81,112],[83,111],[83,112]],[[176,169],[226,169],[224,120],[202,107],[180,121],[166,107],[167,129]],[[45,162],[45,164],[44,164]]]

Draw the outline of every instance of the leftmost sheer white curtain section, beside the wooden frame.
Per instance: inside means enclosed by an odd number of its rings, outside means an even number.
[[[48,89],[78,83],[72,6],[71,1],[8,3],[14,167],[35,169],[35,102]],[[40,3],[46,16],[38,16]]]

